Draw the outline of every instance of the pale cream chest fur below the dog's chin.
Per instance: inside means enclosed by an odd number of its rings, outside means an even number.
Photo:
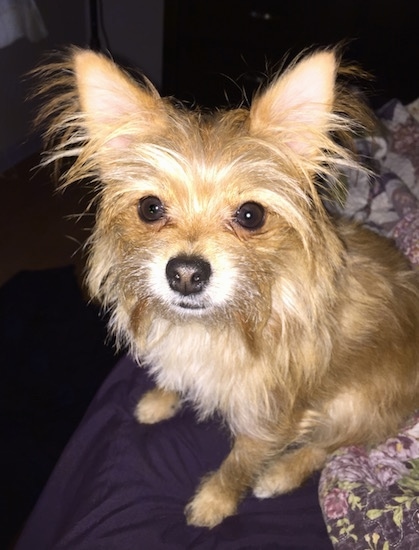
[[[263,381],[234,332],[200,325],[159,322],[147,341],[145,359],[159,387],[179,392],[200,417],[221,412],[234,431],[248,431]],[[262,386],[259,388],[259,386]],[[259,400],[258,407],[261,405]]]

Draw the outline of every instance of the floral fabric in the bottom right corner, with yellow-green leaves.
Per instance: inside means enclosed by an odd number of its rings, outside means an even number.
[[[336,451],[319,494],[335,549],[418,550],[419,413],[378,447]]]

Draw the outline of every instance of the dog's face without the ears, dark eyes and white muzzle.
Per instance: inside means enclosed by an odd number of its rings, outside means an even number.
[[[91,271],[106,247],[113,256],[107,266],[115,270],[110,276],[138,318],[266,322],[281,262],[301,244],[280,213],[289,197],[272,190],[278,167],[249,137],[247,113],[240,118],[236,114],[231,128],[228,117],[198,124],[188,115],[183,141],[175,136],[165,144],[158,136],[147,146],[149,162],[135,147],[132,158],[128,153],[132,176],[122,171],[122,181],[112,175],[109,183],[104,176]],[[289,178],[282,172],[282,180]],[[291,207],[300,216],[306,195],[295,196]]]

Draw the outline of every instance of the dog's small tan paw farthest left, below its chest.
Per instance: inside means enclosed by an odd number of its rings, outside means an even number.
[[[141,398],[135,409],[135,417],[141,424],[155,424],[174,416],[179,407],[177,393],[155,388]]]

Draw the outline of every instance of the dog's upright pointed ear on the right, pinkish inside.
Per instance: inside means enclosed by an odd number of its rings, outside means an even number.
[[[337,71],[333,52],[322,51],[288,69],[250,109],[250,131],[275,135],[299,154],[314,153],[329,130]]]

